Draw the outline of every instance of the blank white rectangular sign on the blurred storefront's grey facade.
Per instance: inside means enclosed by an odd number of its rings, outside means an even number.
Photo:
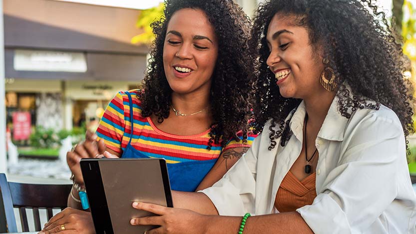
[[[16,71],[86,72],[84,53],[42,50],[14,50]]]

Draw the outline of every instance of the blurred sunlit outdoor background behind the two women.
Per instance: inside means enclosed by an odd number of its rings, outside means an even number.
[[[6,123],[0,131],[7,135],[6,149],[0,142],[7,151],[7,157],[0,153],[0,172],[16,180],[66,182],[66,151],[86,129],[96,129],[115,93],[139,87],[154,39],[149,25],[162,15],[163,1],[0,1],[5,76],[0,121]],[[236,0],[250,17],[262,1]],[[377,3],[390,24],[397,18],[408,58],[405,74],[415,80],[416,0]],[[416,140],[409,141],[409,168],[416,173]]]

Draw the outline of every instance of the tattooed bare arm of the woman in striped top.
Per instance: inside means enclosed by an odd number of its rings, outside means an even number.
[[[205,176],[196,191],[211,187],[219,181],[224,174],[247,152],[249,147],[237,147],[224,151],[211,171]]]

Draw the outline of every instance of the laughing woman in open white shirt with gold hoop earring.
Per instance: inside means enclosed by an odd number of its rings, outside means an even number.
[[[131,224],[160,226],[148,234],[414,234],[414,102],[378,12],[372,0],[260,5],[251,48],[263,133],[213,187],[174,192],[175,208],[133,203],[160,216]]]

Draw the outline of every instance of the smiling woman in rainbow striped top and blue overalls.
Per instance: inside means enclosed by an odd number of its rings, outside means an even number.
[[[152,23],[156,38],[143,89],[116,94],[96,135],[87,133],[67,154],[75,185],[68,207],[81,209],[75,189],[83,187],[81,158],[164,158],[171,188],[193,192],[222,178],[256,136],[250,129],[255,58],[247,49],[248,17],[233,0],[165,4],[165,16]],[[43,231],[61,227],[93,232],[90,214],[74,209],[56,215]]]

